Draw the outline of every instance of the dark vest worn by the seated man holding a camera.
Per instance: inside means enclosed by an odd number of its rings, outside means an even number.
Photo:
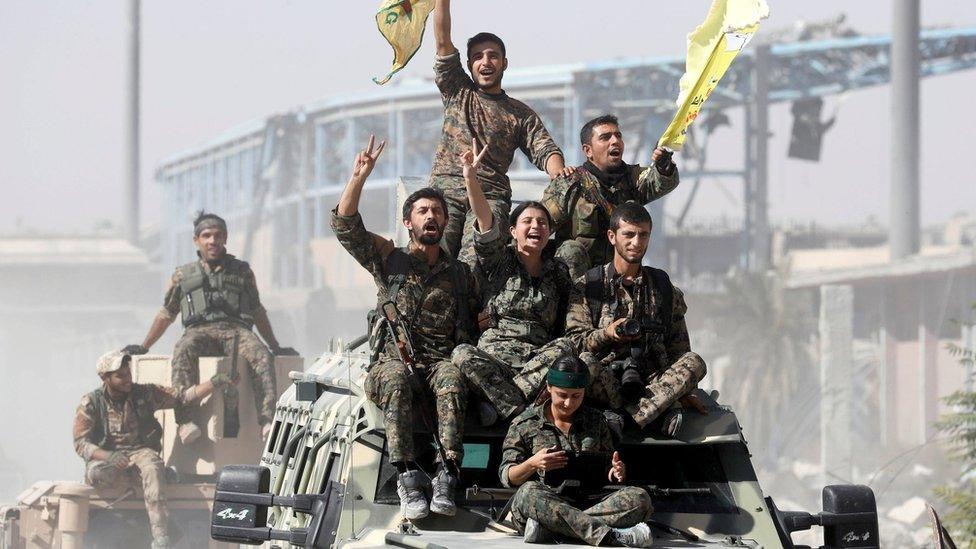
[[[643,292],[641,303],[637,304],[640,311],[641,334],[644,340],[645,356],[655,361],[652,367],[667,366],[666,342],[671,334],[671,323],[674,316],[674,286],[668,273],[654,267],[642,266],[643,281],[646,291]],[[593,267],[586,271],[586,285],[583,293],[593,319],[593,327],[599,327],[603,304],[611,299],[608,284],[604,282],[604,265]],[[651,306],[652,291],[658,294],[657,306]]]

